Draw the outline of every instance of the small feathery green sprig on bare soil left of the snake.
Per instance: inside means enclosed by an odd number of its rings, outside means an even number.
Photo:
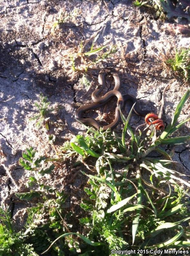
[[[47,96],[43,96],[42,93],[40,93],[39,96],[40,100],[39,102],[35,102],[35,106],[39,111],[38,115],[33,116],[30,118],[30,120],[38,120],[36,123],[36,126],[40,128],[48,115],[54,111],[55,109],[53,107],[50,107],[51,102],[48,101]],[[48,123],[45,123],[46,129],[49,130]]]

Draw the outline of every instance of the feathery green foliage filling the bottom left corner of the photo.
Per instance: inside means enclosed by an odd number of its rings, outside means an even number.
[[[55,239],[71,227],[65,224],[69,216],[64,213],[65,199],[65,194],[58,191],[55,191],[54,198],[43,197],[41,203],[27,209],[25,227],[18,232],[14,229],[9,210],[0,207],[0,255],[39,256],[52,238]],[[64,253],[69,253],[69,247],[58,242],[49,255],[64,256]]]

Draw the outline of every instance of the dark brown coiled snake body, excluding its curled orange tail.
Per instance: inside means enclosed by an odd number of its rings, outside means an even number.
[[[98,97],[98,95],[102,92],[102,90],[105,87],[107,75],[113,76],[115,81],[115,86],[112,91],[107,92],[102,97]],[[146,116],[148,113],[151,112],[149,110],[141,110],[141,108],[139,107],[139,103],[135,97],[129,94],[122,95],[121,92],[119,92],[121,82],[115,70],[113,69],[101,70],[98,76],[98,81],[99,81],[99,84],[101,85],[101,88],[96,89],[94,92],[92,92],[91,98],[93,100],[93,103],[81,106],[80,108],[77,109],[75,113],[75,118],[80,120],[83,124],[91,125],[91,126],[94,126],[96,129],[99,129],[102,125],[98,121],[96,121],[94,118],[83,118],[83,113],[85,111],[97,109],[104,106],[113,96],[116,96],[118,99],[117,106],[115,108],[115,118],[111,124],[104,125],[103,130],[107,130],[108,128],[114,128],[119,124],[120,118],[121,118],[119,106],[122,108],[125,105],[126,101],[128,100],[131,101],[133,104],[136,103],[134,106],[134,111],[137,115]]]

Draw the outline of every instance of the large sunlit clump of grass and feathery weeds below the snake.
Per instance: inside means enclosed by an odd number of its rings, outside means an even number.
[[[69,153],[73,151],[80,156],[81,162],[95,174],[82,172],[89,178],[84,189],[88,197],[81,203],[85,211],[80,219],[83,235],[71,232],[57,239],[80,237],[77,248],[79,246],[82,254],[78,255],[100,252],[111,255],[115,248],[185,249],[190,246],[186,232],[190,220],[187,210],[190,185],[183,174],[176,171],[170,154],[161,147],[190,139],[190,136],[170,137],[190,120],[176,124],[188,97],[189,91],[180,100],[172,122],[159,136],[154,136],[154,130],[148,137],[140,130],[133,132],[128,125],[130,112],[127,119],[121,113],[124,122],[121,138],[109,130],[89,129],[86,136],[77,135],[75,141],[70,142],[70,148],[67,145]],[[126,139],[127,133],[130,139]],[[152,151],[159,152],[163,158],[152,158]],[[88,165],[88,159],[90,163],[95,160],[94,169]],[[166,229],[167,236],[164,235]],[[49,248],[53,245],[54,242]]]

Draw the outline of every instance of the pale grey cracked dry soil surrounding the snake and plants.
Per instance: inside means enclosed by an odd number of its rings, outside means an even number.
[[[14,200],[14,192],[25,187],[28,177],[18,164],[22,152],[32,146],[39,155],[55,156],[64,141],[83,132],[83,127],[74,119],[73,103],[91,99],[91,91],[98,82],[99,70],[94,70],[92,88],[86,92],[79,82],[80,76],[74,80],[69,77],[70,67],[64,57],[75,50],[82,38],[88,40],[100,30],[98,47],[110,44],[118,47],[115,55],[121,61],[115,68],[120,71],[121,92],[141,99],[143,109],[158,112],[163,89],[171,84],[165,94],[163,114],[168,124],[188,84],[172,72],[166,72],[163,59],[174,48],[188,47],[190,38],[189,34],[180,33],[183,27],[189,29],[186,20],[161,21],[154,13],[134,7],[128,0],[0,2],[0,201],[11,205],[12,217],[20,226],[26,207],[30,206]],[[74,8],[77,16],[63,22],[56,33],[52,33],[59,13],[70,13]],[[113,60],[104,63],[104,67],[112,65]],[[50,132],[56,135],[54,145],[48,142],[45,128],[39,130],[35,121],[30,121],[36,114],[34,103],[41,92],[48,96],[54,108],[62,106],[51,117],[62,124],[61,128],[51,127]],[[186,103],[179,121],[187,118],[188,111]],[[133,128],[142,123],[141,117],[132,116]],[[117,129],[120,130],[121,125]],[[188,133],[186,124],[179,134]],[[188,145],[179,145],[173,150],[173,159],[183,165],[184,173],[190,174]],[[65,163],[49,175],[49,180],[58,189],[67,183],[66,189],[77,207],[80,196],[75,194],[81,188],[82,178],[76,171],[77,168]],[[76,180],[72,178],[74,174]]]

